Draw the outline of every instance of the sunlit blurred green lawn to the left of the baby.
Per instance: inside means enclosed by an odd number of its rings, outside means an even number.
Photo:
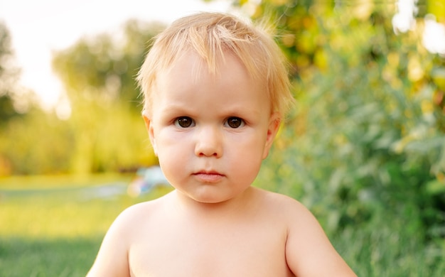
[[[159,197],[98,197],[112,183],[125,190],[129,176],[10,178],[0,180],[0,276],[85,276],[105,232],[136,202]]]

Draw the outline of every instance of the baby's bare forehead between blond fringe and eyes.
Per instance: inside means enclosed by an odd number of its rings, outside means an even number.
[[[210,105],[216,114],[253,110],[267,113],[267,86],[254,80],[236,55],[227,53],[216,65],[212,72],[198,53],[181,55],[156,78],[150,108],[153,112],[199,112]]]

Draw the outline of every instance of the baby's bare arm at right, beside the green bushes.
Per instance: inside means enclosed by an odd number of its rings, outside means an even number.
[[[313,214],[299,202],[291,206],[286,241],[286,262],[291,271],[299,277],[356,276],[333,248]]]

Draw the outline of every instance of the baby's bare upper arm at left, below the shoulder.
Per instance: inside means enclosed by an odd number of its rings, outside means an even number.
[[[126,227],[131,226],[131,221],[127,211],[114,220],[87,277],[130,276],[127,254],[129,229]]]

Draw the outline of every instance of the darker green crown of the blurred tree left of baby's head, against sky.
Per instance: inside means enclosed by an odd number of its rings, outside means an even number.
[[[160,24],[128,21],[122,34],[103,33],[83,38],[55,53],[53,67],[68,91],[70,101],[106,105],[119,102],[140,114],[139,89],[134,77],[141,66],[148,42],[161,31]]]

